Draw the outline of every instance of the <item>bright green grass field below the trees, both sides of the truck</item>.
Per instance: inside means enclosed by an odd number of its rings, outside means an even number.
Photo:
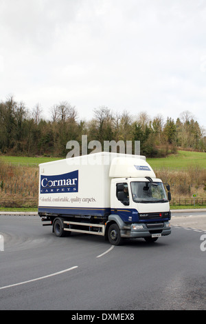
[[[60,158],[55,157],[27,157],[27,156],[0,156],[0,159],[6,163],[21,163],[24,165],[38,165],[49,161],[56,161]],[[206,168],[206,153],[205,152],[188,152],[178,151],[177,154],[171,154],[168,157],[160,159],[147,159],[152,168]]]

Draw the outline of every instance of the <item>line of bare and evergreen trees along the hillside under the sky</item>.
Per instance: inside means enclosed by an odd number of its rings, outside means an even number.
[[[0,103],[1,154],[47,155],[65,157],[66,144],[75,140],[81,145],[82,135],[88,142],[140,141],[141,154],[166,156],[177,148],[205,151],[204,130],[188,111],[176,121],[161,115],[151,119],[146,112],[133,117],[129,112],[113,112],[105,106],[93,110],[93,119],[83,121],[78,111],[64,101],[50,110],[50,119],[43,118],[40,105],[29,112],[24,103],[10,96]]]

